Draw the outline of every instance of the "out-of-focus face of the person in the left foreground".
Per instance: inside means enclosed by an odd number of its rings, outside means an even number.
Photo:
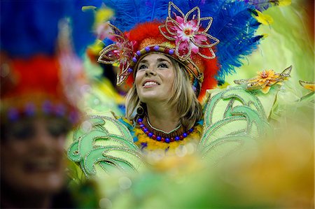
[[[54,193],[64,185],[66,124],[50,117],[21,119],[1,139],[1,179],[18,192]]]

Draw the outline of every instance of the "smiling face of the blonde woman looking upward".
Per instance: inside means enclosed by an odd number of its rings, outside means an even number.
[[[167,101],[172,96],[175,69],[165,55],[147,55],[138,64],[135,84],[140,101]]]

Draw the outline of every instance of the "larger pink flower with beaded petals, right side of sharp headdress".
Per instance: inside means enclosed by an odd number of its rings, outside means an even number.
[[[207,34],[211,22],[212,17],[200,17],[200,8],[198,7],[184,15],[174,3],[169,2],[169,16],[165,24],[160,25],[159,28],[165,38],[175,41],[175,53],[182,61],[190,58],[192,53],[206,59],[213,59],[216,55],[211,47],[218,44],[219,41]],[[203,28],[202,24],[207,25],[207,27]],[[202,54],[200,48],[209,49],[211,57]]]

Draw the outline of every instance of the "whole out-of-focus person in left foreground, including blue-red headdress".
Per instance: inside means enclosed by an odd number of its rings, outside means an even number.
[[[1,208],[77,207],[64,146],[80,120],[80,55],[92,36],[83,6],[1,1]]]

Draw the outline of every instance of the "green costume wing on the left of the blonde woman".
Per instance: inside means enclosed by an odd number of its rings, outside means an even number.
[[[73,133],[68,158],[78,163],[87,177],[137,172],[144,165],[127,127],[116,118],[99,115],[90,116]]]

